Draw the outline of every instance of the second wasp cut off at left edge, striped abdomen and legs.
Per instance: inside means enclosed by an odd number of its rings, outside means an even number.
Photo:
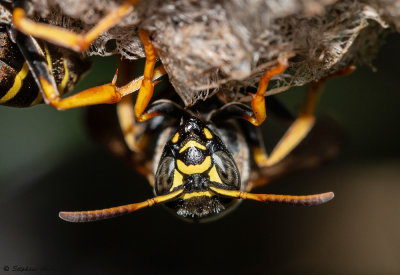
[[[143,77],[134,79],[123,87],[117,87],[115,75],[110,83],[62,97],[89,69],[90,63],[83,54],[74,52],[76,49],[73,47],[68,49],[46,43],[48,40],[53,42],[46,35],[44,39],[40,39],[37,33],[55,35],[58,40],[68,39],[70,35],[65,32],[54,33],[53,29],[57,29],[55,26],[43,30],[43,26],[49,25],[25,18],[26,3],[27,1],[20,0],[0,0],[0,104],[28,107],[44,102],[59,110],[65,110],[116,103],[123,96],[140,88]],[[30,31],[24,33],[18,29],[21,22],[25,23]],[[163,68],[157,68],[154,80],[163,74]]]

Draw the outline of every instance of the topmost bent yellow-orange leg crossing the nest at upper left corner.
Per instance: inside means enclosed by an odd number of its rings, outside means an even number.
[[[126,0],[117,9],[101,19],[87,33],[77,34],[61,27],[37,23],[26,17],[23,9],[24,1],[18,1],[13,11],[12,22],[21,32],[54,43],[77,52],[86,50],[101,33],[112,28],[122,18],[129,14],[139,0]]]

